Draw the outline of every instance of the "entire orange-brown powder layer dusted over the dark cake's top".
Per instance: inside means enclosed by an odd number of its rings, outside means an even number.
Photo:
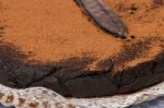
[[[97,58],[95,62],[120,56],[116,60],[120,64],[144,58],[143,53],[153,53],[155,48],[163,49],[161,40],[156,40],[156,47],[153,47],[154,40],[145,39],[155,36],[164,40],[163,1],[105,1],[127,24],[127,39],[115,38],[101,31],[82,14],[73,0],[1,0],[0,40],[30,53],[28,59],[42,62],[87,53]],[[157,5],[155,10],[154,4]],[[155,55],[151,53],[148,57],[153,59]]]

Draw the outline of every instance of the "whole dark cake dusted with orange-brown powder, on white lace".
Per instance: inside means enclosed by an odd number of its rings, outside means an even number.
[[[102,27],[83,2],[0,0],[0,84],[102,97],[164,81],[164,0],[105,0],[124,23]]]

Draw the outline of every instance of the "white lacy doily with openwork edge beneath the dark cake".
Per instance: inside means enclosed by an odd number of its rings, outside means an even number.
[[[77,108],[124,108],[130,105],[137,105],[142,101],[154,99],[159,96],[164,96],[164,82],[138,93],[105,98],[67,99],[58,95],[57,93],[43,87],[12,89],[3,85],[0,85],[0,94],[4,95],[2,98],[0,98],[0,103],[9,106],[19,107],[19,98],[24,98],[25,103],[22,106],[20,106],[21,108],[27,107],[31,103],[37,103],[38,108],[45,108],[46,106],[48,108],[56,108],[58,106],[62,106],[63,108],[69,108],[69,106],[75,106]],[[11,95],[14,97],[13,101],[7,103],[8,96]]]

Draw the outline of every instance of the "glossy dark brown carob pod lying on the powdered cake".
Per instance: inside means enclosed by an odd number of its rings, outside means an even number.
[[[75,0],[75,2],[103,29],[115,36],[126,37],[127,26],[103,0]]]

